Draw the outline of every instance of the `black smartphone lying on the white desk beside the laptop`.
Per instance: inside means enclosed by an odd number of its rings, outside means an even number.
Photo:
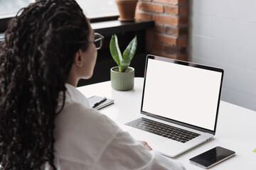
[[[213,149],[203,152],[203,154],[199,154],[198,156],[189,159],[189,161],[191,164],[208,169],[234,155],[235,152],[232,150],[225,149],[223,147],[214,147]]]

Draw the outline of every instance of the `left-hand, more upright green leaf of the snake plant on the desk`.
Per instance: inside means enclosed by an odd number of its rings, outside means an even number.
[[[110,53],[117,65],[120,66],[120,63],[122,62],[122,54],[119,49],[117,35],[115,34],[112,35],[112,38],[110,40]]]

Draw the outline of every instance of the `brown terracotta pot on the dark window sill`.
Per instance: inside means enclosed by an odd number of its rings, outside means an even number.
[[[138,0],[116,0],[115,2],[119,11],[119,21],[134,21],[134,14]]]

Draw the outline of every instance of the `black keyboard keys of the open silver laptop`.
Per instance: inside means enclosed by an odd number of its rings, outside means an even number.
[[[159,123],[146,118],[139,118],[137,120],[133,120],[132,122],[126,123],[125,125],[129,125],[133,128],[144,130],[146,132],[151,132],[155,135],[167,137],[171,140],[176,140],[182,143],[188,142],[189,140],[192,140],[193,138],[200,135],[195,132],[182,130],[180,128],[175,128],[174,126]]]

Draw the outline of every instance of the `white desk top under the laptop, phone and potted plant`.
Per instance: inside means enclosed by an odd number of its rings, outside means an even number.
[[[87,97],[96,95],[114,99],[114,104],[102,108],[100,112],[117,123],[127,123],[140,117],[143,80],[135,78],[131,91],[115,91],[110,81],[82,86],[78,90]],[[188,159],[216,146],[232,149],[236,155],[210,169],[256,169],[256,152],[252,152],[256,148],[256,112],[221,101],[214,139],[174,159],[186,169],[201,169],[190,164]]]

